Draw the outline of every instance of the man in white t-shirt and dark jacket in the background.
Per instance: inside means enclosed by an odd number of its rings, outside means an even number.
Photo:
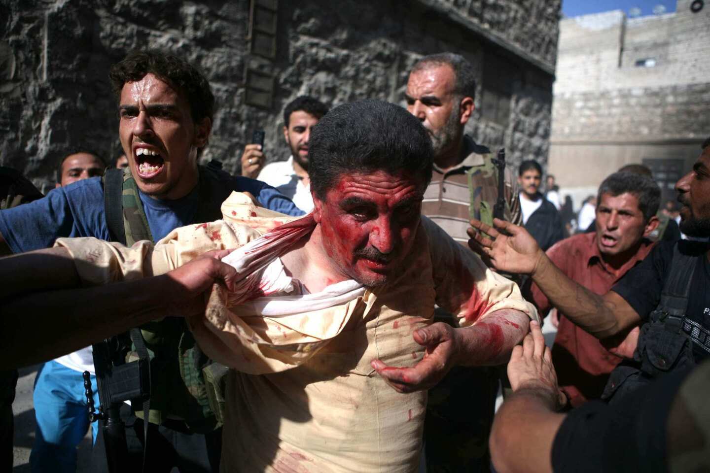
[[[545,251],[564,238],[564,230],[557,208],[540,194],[541,180],[542,167],[537,161],[528,160],[520,164],[518,184],[523,226]]]

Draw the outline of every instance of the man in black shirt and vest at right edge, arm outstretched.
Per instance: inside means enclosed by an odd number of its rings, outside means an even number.
[[[692,171],[675,185],[682,204],[680,229],[695,237],[710,236],[710,138],[702,148]],[[605,399],[621,399],[650,379],[692,367],[710,353],[710,296],[704,290],[710,274],[707,245],[662,243],[611,291],[599,295],[564,277],[523,228],[494,223],[505,234],[471,221],[491,238],[469,229],[469,245],[499,271],[530,274],[575,325],[613,347],[643,322],[638,347],[632,341],[617,348],[621,355],[633,354],[633,362],[614,370]]]

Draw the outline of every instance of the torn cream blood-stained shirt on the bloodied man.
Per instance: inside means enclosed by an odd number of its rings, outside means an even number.
[[[307,225],[310,218],[293,221],[254,207],[241,194],[232,194],[222,213],[224,221],[179,228],[155,247],[139,242],[126,248],[87,238],[61,239],[58,245],[70,250],[82,279],[96,284],[160,274],[207,250],[246,245],[251,251],[250,245],[279,228]],[[383,286],[300,314],[266,314],[262,304],[263,299],[293,298],[293,289],[303,290],[297,281],[282,292],[231,302],[232,296],[216,285],[204,315],[188,323],[204,352],[233,368],[226,382],[223,471],[417,468],[427,392],[399,394],[373,370],[371,360],[392,366],[419,362],[424,347],[412,334],[432,323],[435,304],[457,314],[461,326],[503,308],[532,318],[537,313],[518,286],[491,272],[426,218],[413,247],[417,251]],[[269,271],[281,274],[280,260],[273,261],[277,267]],[[266,274],[263,265],[254,267],[255,274]],[[274,286],[270,283],[261,277],[258,286]]]

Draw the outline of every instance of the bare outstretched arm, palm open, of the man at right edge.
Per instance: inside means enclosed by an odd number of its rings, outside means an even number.
[[[596,338],[608,338],[640,322],[638,313],[616,292],[599,296],[569,279],[525,228],[497,218],[493,224],[497,230],[481,221],[471,221],[471,249],[499,271],[530,274],[552,306],[575,325]]]

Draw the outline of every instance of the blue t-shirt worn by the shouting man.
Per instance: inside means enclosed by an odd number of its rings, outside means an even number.
[[[303,211],[288,197],[256,179],[232,177],[234,191],[253,194],[261,205],[291,216]],[[199,191],[175,201],[159,201],[141,195],[148,226],[157,241],[174,228],[195,222]],[[215,202],[219,206],[222,202]],[[10,249],[25,252],[50,247],[60,237],[95,237],[111,240],[104,212],[104,187],[100,177],[83,179],[65,187],[53,189],[43,199],[0,211],[0,233]]]

